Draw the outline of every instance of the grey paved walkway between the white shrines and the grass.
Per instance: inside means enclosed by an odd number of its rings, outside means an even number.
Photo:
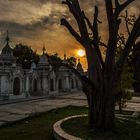
[[[82,92],[69,93],[56,98],[32,98],[33,100],[24,100],[22,102],[7,102],[0,105],[0,125],[6,122],[12,122],[35,113],[49,111],[57,107],[68,105],[84,106],[87,105],[86,97]],[[140,97],[134,97],[127,103],[125,110],[140,112]]]

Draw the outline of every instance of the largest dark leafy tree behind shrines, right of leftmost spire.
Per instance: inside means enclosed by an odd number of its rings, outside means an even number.
[[[37,64],[39,61],[39,55],[29,46],[23,44],[16,45],[13,55],[16,57],[17,63],[21,64],[24,69],[30,69],[32,62]]]

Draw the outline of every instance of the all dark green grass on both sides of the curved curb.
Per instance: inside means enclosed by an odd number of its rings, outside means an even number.
[[[67,116],[86,114],[86,107],[68,106],[53,109],[36,116],[6,124],[0,127],[0,140],[53,140],[53,124]],[[116,111],[118,113],[118,111]],[[132,112],[124,112],[132,114]],[[140,140],[140,125],[130,121],[117,121],[117,128],[111,133],[88,129],[87,117],[69,120],[63,124],[66,132],[84,140]]]

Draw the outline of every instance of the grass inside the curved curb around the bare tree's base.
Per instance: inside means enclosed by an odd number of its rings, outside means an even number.
[[[140,125],[135,121],[116,120],[116,128],[111,132],[90,130],[87,117],[71,119],[62,124],[69,134],[84,140],[140,140]]]

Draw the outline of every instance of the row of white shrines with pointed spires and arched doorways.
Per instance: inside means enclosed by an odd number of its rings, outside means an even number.
[[[63,63],[67,63],[66,56]],[[77,70],[83,72],[80,62]],[[20,99],[34,95],[59,95],[81,89],[78,77],[68,68],[60,66],[54,69],[43,51],[39,63],[31,64],[30,69],[23,69],[16,64],[13,49],[9,45],[9,36],[0,55],[0,99]]]

